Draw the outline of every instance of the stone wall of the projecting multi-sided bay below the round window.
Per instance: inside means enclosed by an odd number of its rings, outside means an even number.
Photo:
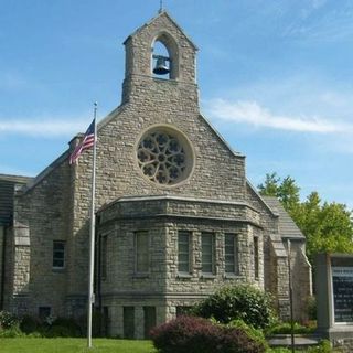
[[[222,207],[217,207],[217,204]],[[139,318],[143,306],[154,307],[157,322],[161,323],[174,318],[178,307],[190,307],[222,286],[248,282],[264,288],[261,231],[250,224],[256,217],[246,218],[244,207],[243,204],[231,202],[131,197],[104,208],[98,215],[98,234],[107,237],[107,276],[101,281],[101,299],[103,306],[109,311],[110,334],[124,334],[124,307],[133,307]],[[229,214],[238,216],[231,217]],[[221,218],[222,215],[224,218]],[[147,276],[138,276],[133,270],[133,233],[145,229],[151,237],[150,271]],[[192,234],[189,274],[178,271],[179,231]],[[215,235],[215,268],[212,275],[202,272],[202,232]],[[225,274],[226,233],[238,236],[238,275]],[[258,237],[260,249],[258,279],[255,279],[254,269],[254,236]],[[143,338],[142,323],[143,320],[138,320],[135,338]]]

